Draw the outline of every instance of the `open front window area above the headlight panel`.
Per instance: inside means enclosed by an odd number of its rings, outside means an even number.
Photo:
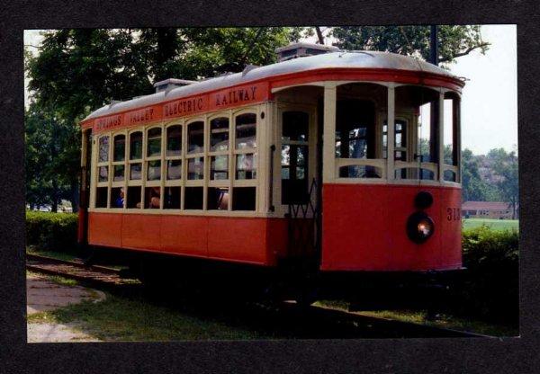
[[[327,118],[334,122],[327,179],[461,183],[460,94],[437,86],[363,82],[334,90],[334,102],[327,103],[333,111]]]

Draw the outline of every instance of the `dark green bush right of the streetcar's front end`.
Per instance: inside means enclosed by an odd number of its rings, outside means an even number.
[[[517,230],[482,226],[463,232],[464,279],[458,309],[467,315],[518,323]]]

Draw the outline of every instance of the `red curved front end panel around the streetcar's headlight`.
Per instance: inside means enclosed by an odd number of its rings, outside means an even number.
[[[407,236],[419,191],[433,195],[425,209],[435,223],[423,244]],[[461,189],[414,185],[324,184],[322,263],[327,271],[428,271],[458,269]]]

